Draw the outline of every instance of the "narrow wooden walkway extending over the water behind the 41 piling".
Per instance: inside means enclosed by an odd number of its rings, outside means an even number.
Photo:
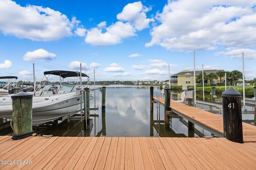
[[[156,98],[154,98],[157,101]],[[164,105],[164,98],[159,99],[160,103]],[[208,111],[198,109],[196,107],[188,106],[181,102],[170,102],[171,111],[199,125],[207,131],[215,134],[218,137],[223,137],[223,118],[220,115],[210,113]],[[244,142],[256,142],[256,126],[248,123],[242,123]]]

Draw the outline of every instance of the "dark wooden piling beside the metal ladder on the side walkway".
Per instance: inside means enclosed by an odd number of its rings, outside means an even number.
[[[171,89],[164,89],[164,129],[170,128],[170,117],[167,115],[167,111],[170,111],[170,102],[171,102]]]

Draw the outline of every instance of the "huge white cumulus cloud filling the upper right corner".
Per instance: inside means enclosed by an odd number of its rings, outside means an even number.
[[[172,51],[255,47],[256,2],[168,1],[152,28],[146,47],[160,45]]]

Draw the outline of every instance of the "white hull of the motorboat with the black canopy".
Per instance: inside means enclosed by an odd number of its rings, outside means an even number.
[[[90,99],[92,99],[92,96],[90,96]],[[40,125],[66,115],[72,116],[80,111],[81,106],[82,109],[84,108],[83,97],[75,92],[52,96],[34,96],[32,100],[33,125]],[[10,102],[1,103],[0,117],[12,118],[12,104]]]

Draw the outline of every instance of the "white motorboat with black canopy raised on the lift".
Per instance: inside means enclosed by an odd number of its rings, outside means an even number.
[[[74,71],[49,71],[46,74],[58,75],[61,78],[78,76],[89,77]],[[47,78],[47,77],[46,77]],[[24,92],[25,93],[25,92]],[[74,115],[84,107],[83,88],[77,85],[62,85],[60,90],[45,86],[40,91],[27,92],[33,94],[32,98],[32,124],[40,125],[66,115]],[[0,117],[12,118],[12,98],[8,94],[0,98]],[[90,94],[90,100],[93,98]],[[81,104],[82,103],[82,104]]]

